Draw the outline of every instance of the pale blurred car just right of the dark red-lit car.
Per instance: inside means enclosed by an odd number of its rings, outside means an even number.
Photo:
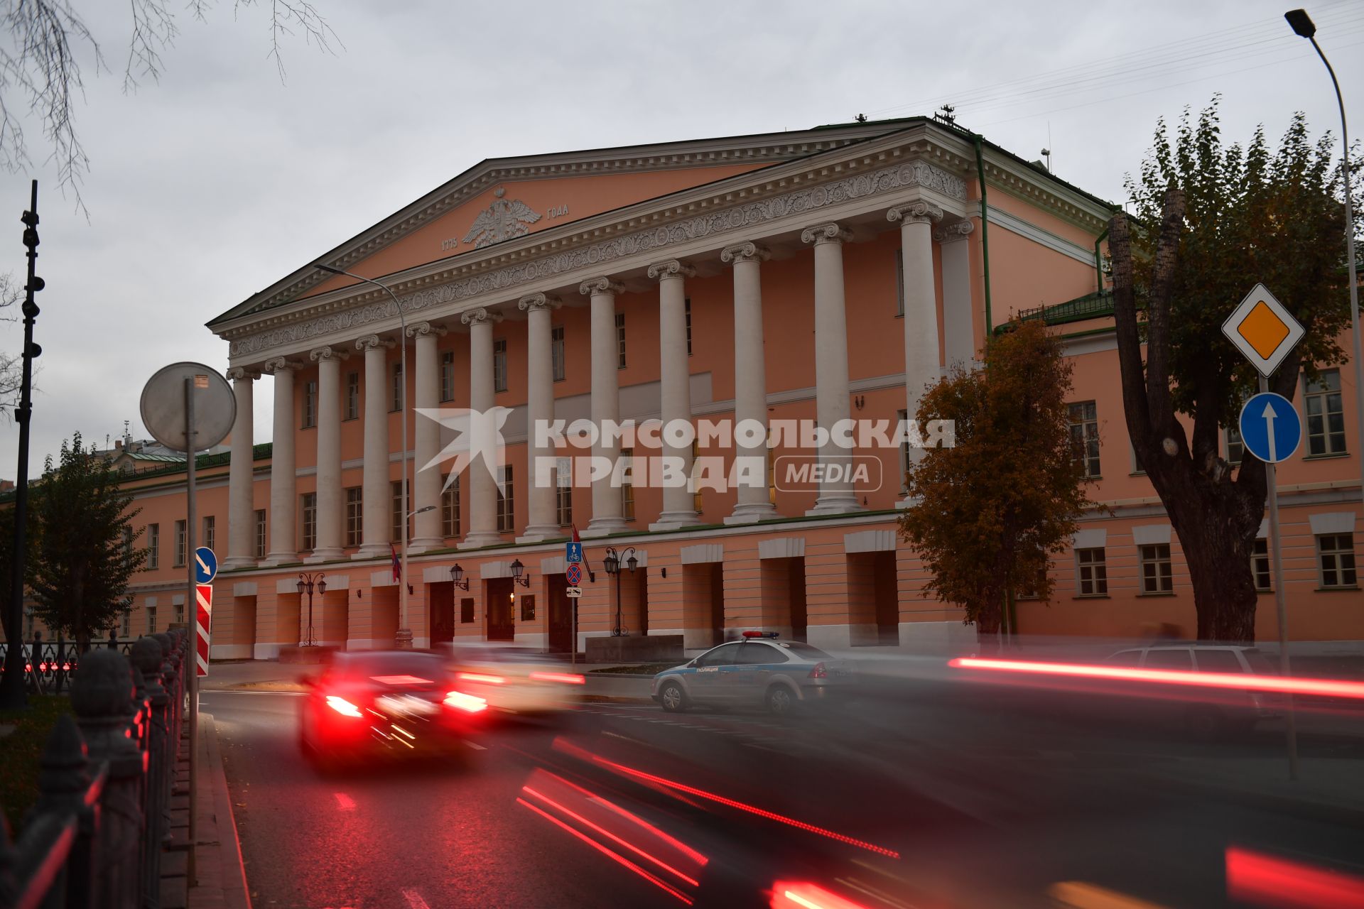
[[[461,691],[503,714],[548,714],[573,706],[585,677],[531,647],[496,643],[450,645],[450,665]]]

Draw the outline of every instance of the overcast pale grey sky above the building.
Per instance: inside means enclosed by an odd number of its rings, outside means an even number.
[[[145,437],[138,398],[155,369],[225,368],[205,322],[483,158],[951,101],[960,124],[1028,158],[1049,146],[1058,176],[1120,200],[1157,117],[1214,91],[1229,139],[1256,123],[1278,136],[1299,109],[1338,135],[1326,71],[1282,19],[1300,0],[314,1],[344,49],[286,40],[284,83],[265,11],[233,16],[220,0],[207,23],[180,15],[160,84],[125,95],[127,4],[72,0],[115,70],[87,67],[76,109],[89,221],[53,168],[0,174],[0,271],[22,275],[31,177],[41,191],[30,476],[74,431],[102,444],[131,420]],[[1364,3],[1307,8],[1364,135]],[[30,153],[48,154],[37,127]],[[0,326],[3,349],[19,338]],[[256,402],[265,440],[270,395]],[[0,421],[0,477],[14,477],[16,436]]]

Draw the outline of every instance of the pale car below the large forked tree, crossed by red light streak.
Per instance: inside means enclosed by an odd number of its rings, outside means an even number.
[[[1109,665],[1174,672],[1222,675],[1275,675],[1277,669],[1255,649],[1237,645],[1172,643],[1118,650]],[[1184,726],[1200,739],[1229,732],[1249,732],[1256,722],[1279,715],[1282,696],[1241,690],[1204,690],[1196,702],[1183,706]]]

